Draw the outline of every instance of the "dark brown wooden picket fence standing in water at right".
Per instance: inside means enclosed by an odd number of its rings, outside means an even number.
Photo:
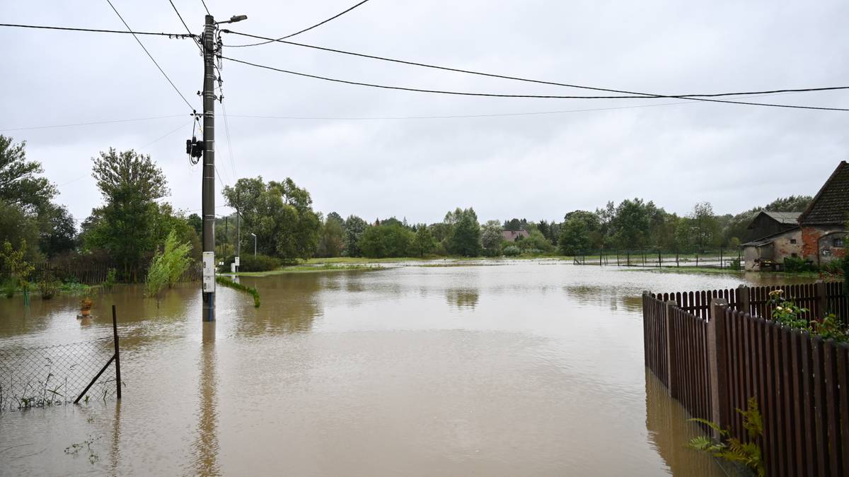
[[[782,288],[799,303],[824,303],[816,316],[829,305],[845,310],[836,285]],[[775,288],[644,293],[645,364],[692,416],[742,441],[749,437],[735,409],[755,397],[767,475],[849,477],[849,345],[764,319],[761,301]]]

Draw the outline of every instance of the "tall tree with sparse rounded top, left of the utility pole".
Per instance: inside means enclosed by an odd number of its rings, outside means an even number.
[[[136,276],[162,236],[157,233],[160,205],[170,194],[162,170],[149,155],[109,149],[93,159],[94,177],[105,205],[92,211],[83,243],[104,249],[121,264],[121,276]]]

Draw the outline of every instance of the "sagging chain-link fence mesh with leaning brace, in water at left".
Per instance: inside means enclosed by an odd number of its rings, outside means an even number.
[[[109,399],[117,390],[114,355],[112,336],[68,345],[4,346],[0,348],[0,412],[61,405],[78,397]]]

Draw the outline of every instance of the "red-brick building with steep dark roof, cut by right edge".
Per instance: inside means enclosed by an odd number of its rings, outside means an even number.
[[[822,265],[846,256],[847,214],[849,164],[844,160],[799,217],[801,255],[805,260]]]

